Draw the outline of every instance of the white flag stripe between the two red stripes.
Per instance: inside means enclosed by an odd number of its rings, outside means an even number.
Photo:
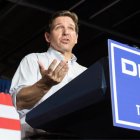
[[[15,107],[2,104],[0,104],[0,117],[19,120]]]

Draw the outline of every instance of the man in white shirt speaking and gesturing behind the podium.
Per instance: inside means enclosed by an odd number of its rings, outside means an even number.
[[[78,40],[75,13],[56,12],[50,20],[49,32],[45,32],[45,39],[49,44],[48,51],[25,56],[10,88],[20,114],[23,137],[27,132],[33,132],[25,122],[26,113],[86,70],[76,62],[72,53]]]

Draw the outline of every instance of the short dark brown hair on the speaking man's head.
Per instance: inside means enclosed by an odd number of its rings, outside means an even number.
[[[75,31],[76,31],[76,33],[78,34],[78,32],[79,32],[79,27],[78,27],[78,16],[77,16],[76,13],[70,12],[70,11],[68,11],[68,10],[57,11],[57,12],[55,12],[54,14],[52,14],[52,16],[51,16],[51,18],[50,18],[50,20],[49,20],[49,25],[48,25],[47,31],[48,31],[48,32],[51,31],[53,21],[54,21],[57,17],[61,17],[61,16],[68,16],[68,17],[70,17],[70,18],[74,21],[74,24],[75,24]]]

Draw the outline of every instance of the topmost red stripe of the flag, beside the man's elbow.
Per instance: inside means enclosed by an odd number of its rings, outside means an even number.
[[[11,95],[0,92],[0,104],[13,106]]]

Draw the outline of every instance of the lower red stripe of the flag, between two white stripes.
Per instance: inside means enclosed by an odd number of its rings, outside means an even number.
[[[8,119],[8,118],[0,118],[0,128],[21,130],[20,121],[14,119]]]

